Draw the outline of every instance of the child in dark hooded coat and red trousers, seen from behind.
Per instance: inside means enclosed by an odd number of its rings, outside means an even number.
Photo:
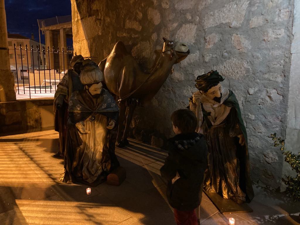
[[[197,225],[196,208],[201,202],[207,146],[204,137],[195,132],[197,119],[187,109],[171,116],[176,134],[167,143],[168,157],[161,176],[168,181],[167,198],[174,208],[178,225]]]

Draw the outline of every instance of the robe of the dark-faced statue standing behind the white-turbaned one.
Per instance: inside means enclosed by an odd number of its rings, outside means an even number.
[[[80,82],[79,74],[73,69],[69,69],[68,72],[61,78],[61,81],[57,85],[57,89],[54,95],[54,129],[59,132],[58,139],[58,154],[63,156],[66,138],[67,138],[67,121],[68,121],[68,102],[73,91],[83,90],[83,85]],[[61,108],[56,109],[56,101],[61,99]]]

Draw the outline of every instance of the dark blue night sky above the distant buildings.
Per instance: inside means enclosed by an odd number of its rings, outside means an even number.
[[[37,19],[71,15],[70,0],[4,0],[7,32],[20,34],[39,41]],[[45,43],[41,33],[41,42]],[[67,45],[72,45],[68,40]]]

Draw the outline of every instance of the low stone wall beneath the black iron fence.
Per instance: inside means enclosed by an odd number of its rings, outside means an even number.
[[[0,102],[0,136],[53,126],[53,99]]]

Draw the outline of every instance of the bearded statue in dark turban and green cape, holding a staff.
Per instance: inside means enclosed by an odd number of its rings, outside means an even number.
[[[233,92],[220,84],[217,72],[198,76],[199,90],[190,98],[190,110],[199,118],[198,133],[208,147],[204,188],[237,203],[250,202],[254,193],[250,178],[247,132]],[[198,109],[198,110],[197,110]]]

